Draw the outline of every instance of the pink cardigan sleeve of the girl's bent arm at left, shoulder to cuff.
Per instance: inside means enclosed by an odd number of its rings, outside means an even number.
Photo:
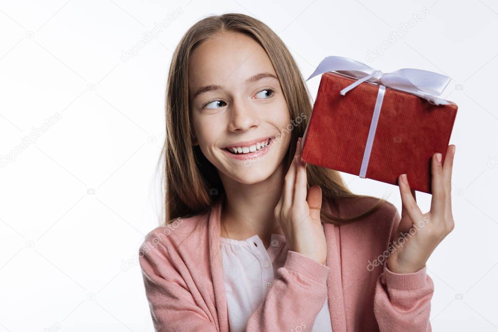
[[[139,263],[155,331],[218,331],[217,318],[196,303],[164,246],[145,251]],[[327,298],[329,271],[329,267],[289,250],[265,299],[249,317],[246,331],[311,328]]]

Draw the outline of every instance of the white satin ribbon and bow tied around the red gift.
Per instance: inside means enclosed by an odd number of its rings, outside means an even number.
[[[367,174],[370,154],[372,152],[373,138],[375,137],[375,130],[377,128],[378,118],[382,108],[382,101],[384,99],[385,87],[418,96],[433,105],[450,104],[448,101],[436,97],[441,95],[446,86],[448,86],[448,83],[450,83],[451,78],[448,76],[413,68],[403,68],[392,73],[382,73],[380,70],[375,70],[362,62],[341,56],[329,56],[323,59],[313,74],[311,74],[306,81],[322,73],[332,71],[358,79],[353,84],[341,90],[340,94],[342,96],[345,96],[348,91],[356,88],[366,81],[378,84],[379,86],[377,100],[375,101],[375,108],[373,109],[372,121],[370,123],[367,144],[365,145],[362,165],[360,168],[361,178],[365,178]],[[306,136],[307,129],[308,128],[306,128],[304,132],[304,136]],[[305,138],[306,137],[303,137],[303,140]]]

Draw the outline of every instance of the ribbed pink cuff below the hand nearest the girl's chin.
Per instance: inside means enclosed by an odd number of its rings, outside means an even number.
[[[330,267],[293,250],[287,251],[287,258],[283,267],[322,284],[327,282],[327,276],[330,272]]]

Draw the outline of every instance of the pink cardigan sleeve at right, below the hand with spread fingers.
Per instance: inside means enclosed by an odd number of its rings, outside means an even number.
[[[395,212],[391,242],[400,221]],[[386,264],[377,278],[373,311],[381,332],[432,331],[429,322],[430,301],[434,293],[432,279],[424,266],[413,273],[394,273]]]

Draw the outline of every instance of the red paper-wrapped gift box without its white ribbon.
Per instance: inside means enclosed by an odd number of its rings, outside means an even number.
[[[311,78],[311,77],[310,77]],[[361,175],[380,87],[385,88],[364,178],[397,185],[406,173],[410,188],[431,191],[431,158],[446,149],[457,105],[434,105],[416,95],[363,82],[346,95],[340,91],[357,81],[336,72],[322,75],[301,159],[309,164]],[[448,81],[449,82],[449,81]],[[366,170],[366,171],[365,171]]]

